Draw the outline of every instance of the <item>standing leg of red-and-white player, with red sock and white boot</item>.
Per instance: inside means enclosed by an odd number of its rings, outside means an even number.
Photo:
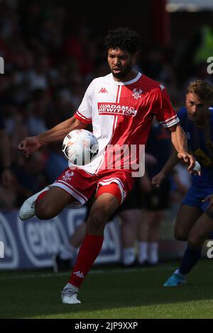
[[[107,188],[107,186],[103,187]],[[80,247],[70,279],[62,291],[62,303],[80,303],[80,300],[77,300],[78,290],[102,249],[104,227],[111,215],[119,207],[119,204],[116,196],[111,193],[102,193],[92,205],[87,220],[86,236]]]

